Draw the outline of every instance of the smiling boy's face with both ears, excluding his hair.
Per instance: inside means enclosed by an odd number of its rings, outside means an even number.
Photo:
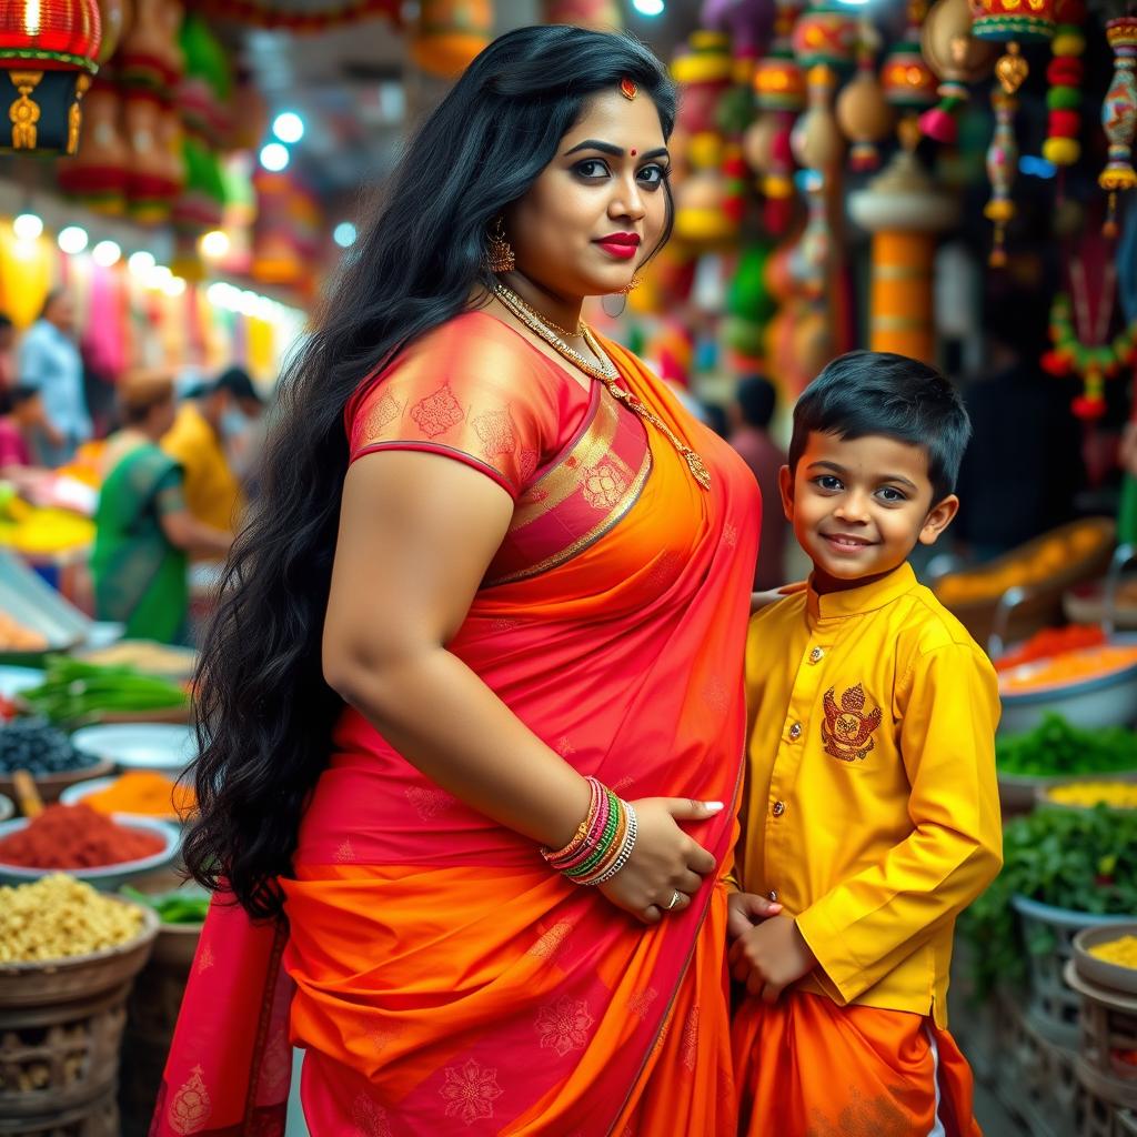
[[[841,439],[811,431],[797,470],[783,466],[780,484],[819,591],[886,575],[918,542],[935,543],[958,508],[954,495],[932,505],[923,447],[883,434]]]

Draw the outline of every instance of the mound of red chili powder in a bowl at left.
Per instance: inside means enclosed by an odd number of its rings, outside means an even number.
[[[31,869],[96,869],[160,852],[152,833],[126,829],[89,805],[49,805],[0,840],[0,861]]]

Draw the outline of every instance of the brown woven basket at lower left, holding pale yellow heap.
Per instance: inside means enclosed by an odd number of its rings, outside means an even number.
[[[98,1113],[114,1098],[126,996],[158,930],[158,918],[140,911],[142,931],[119,947],[0,964],[0,1134],[51,1134],[48,1119],[75,1114],[81,1128],[67,1122],[63,1131],[85,1137],[84,1110]],[[117,1134],[117,1111],[115,1126]]]

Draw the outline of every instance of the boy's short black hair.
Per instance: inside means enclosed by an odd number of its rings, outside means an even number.
[[[935,505],[955,490],[971,420],[935,367],[890,351],[850,351],[822,368],[794,407],[791,471],[812,431],[843,440],[883,434],[923,447]]]

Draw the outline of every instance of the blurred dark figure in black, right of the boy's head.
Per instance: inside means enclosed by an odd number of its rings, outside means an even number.
[[[956,522],[958,540],[980,561],[1069,521],[1085,482],[1070,385],[1038,362],[1046,327],[1040,297],[1015,292],[984,306],[987,367],[963,391],[972,437]]]

